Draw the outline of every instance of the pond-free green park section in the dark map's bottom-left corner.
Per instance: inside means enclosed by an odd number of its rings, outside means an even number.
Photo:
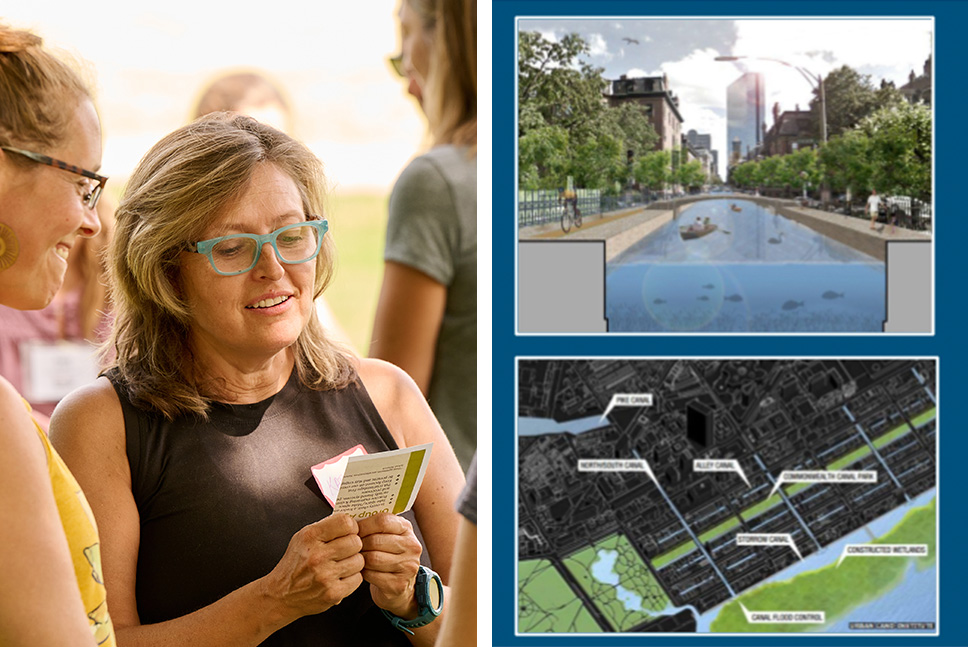
[[[518,631],[598,633],[601,627],[545,559],[518,564]]]

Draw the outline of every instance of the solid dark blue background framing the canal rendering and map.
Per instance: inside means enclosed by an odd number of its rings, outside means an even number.
[[[963,204],[968,2],[520,2],[492,3],[493,51],[493,599],[492,641],[517,645],[968,645],[962,606],[968,582],[966,515],[968,415],[961,392],[965,371],[966,283],[962,246],[968,241]],[[935,18],[935,334],[933,336],[518,336],[515,334],[515,19],[517,16],[934,16]],[[552,356],[898,356],[939,357],[940,635],[906,637],[755,636],[515,636],[514,463],[517,412],[515,357]],[[946,400],[944,394],[950,395]],[[943,496],[941,491],[943,490]],[[943,546],[943,548],[941,548]],[[483,620],[483,619],[482,619]],[[486,621],[486,620],[483,620]]]

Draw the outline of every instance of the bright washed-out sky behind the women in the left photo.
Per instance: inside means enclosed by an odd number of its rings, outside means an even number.
[[[0,15],[92,65],[106,175],[128,175],[152,144],[184,124],[200,88],[219,72],[254,68],[284,86],[296,136],[338,189],[388,191],[425,130],[386,63],[399,50],[398,4],[44,0],[5,2]]]

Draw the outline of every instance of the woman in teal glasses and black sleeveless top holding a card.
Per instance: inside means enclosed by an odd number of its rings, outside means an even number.
[[[109,259],[114,366],[51,436],[89,491],[119,642],[430,645],[463,479],[405,373],[326,338],[322,167],[249,117],[148,152]],[[413,510],[334,514],[310,468],[433,442]],[[446,596],[445,596],[446,597]]]

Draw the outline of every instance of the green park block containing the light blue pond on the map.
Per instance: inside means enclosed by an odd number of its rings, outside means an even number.
[[[611,561],[612,581],[595,572]],[[612,535],[565,558],[565,567],[615,631],[628,631],[660,615],[669,598],[624,535]],[[601,575],[601,573],[599,573]]]

